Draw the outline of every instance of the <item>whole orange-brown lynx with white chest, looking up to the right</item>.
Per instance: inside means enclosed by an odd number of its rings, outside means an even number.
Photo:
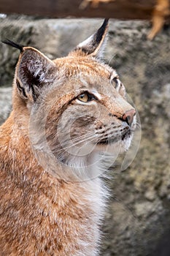
[[[105,19],[53,61],[6,41],[20,56],[0,127],[1,255],[98,255],[109,194],[101,176],[136,127],[123,83],[101,61],[107,29]]]

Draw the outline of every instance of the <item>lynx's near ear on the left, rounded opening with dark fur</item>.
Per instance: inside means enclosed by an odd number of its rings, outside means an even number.
[[[16,69],[16,85],[20,96],[35,102],[42,87],[53,82],[56,76],[53,61],[31,47],[24,47]]]

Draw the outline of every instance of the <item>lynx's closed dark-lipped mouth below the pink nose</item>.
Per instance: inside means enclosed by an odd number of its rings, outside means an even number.
[[[97,145],[109,145],[109,144],[114,144],[119,142],[120,140],[123,141],[127,138],[130,138],[132,135],[131,129],[123,129],[123,132],[121,132],[120,135],[117,136],[107,136],[105,138],[101,138],[100,140],[98,140]]]

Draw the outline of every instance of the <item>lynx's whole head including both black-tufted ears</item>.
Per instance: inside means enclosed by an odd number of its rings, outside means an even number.
[[[68,56],[53,61],[35,48],[7,42],[21,51],[14,80],[15,120],[29,127],[35,154],[46,168],[59,161],[89,171],[102,152],[117,155],[131,144],[136,111],[115,69],[101,61],[107,29],[106,19]],[[58,162],[51,168],[55,166]]]

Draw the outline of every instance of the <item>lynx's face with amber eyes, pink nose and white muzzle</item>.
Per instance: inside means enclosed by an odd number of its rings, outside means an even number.
[[[110,71],[115,75],[114,70]],[[117,154],[128,150],[136,127],[135,110],[126,102],[120,80],[111,79],[80,75],[67,80],[67,89],[71,84],[74,86],[65,96],[69,99],[63,102],[64,109],[55,121],[53,116],[60,99],[51,104],[45,134],[61,162],[68,164],[75,157],[89,157],[94,152]]]

